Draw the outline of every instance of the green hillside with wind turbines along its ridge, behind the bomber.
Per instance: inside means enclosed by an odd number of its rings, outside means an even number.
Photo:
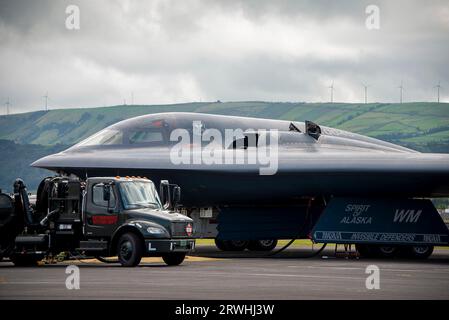
[[[0,139],[20,144],[72,145],[117,121],[184,111],[312,120],[420,151],[449,152],[449,104],[226,102],[60,109],[0,117]]]

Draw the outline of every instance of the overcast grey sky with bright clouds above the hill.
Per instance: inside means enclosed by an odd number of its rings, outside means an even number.
[[[80,29],[66,28],[66,7]],[[380,28],[366,27],[368,5]],[[449,1],[0,1],[0,114],[191,101],[449,101]]]

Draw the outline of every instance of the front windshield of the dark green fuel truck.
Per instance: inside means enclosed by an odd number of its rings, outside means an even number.
[[[150,181],[126,181],[119,183],[125,209],[162,207],[154,184]]]

